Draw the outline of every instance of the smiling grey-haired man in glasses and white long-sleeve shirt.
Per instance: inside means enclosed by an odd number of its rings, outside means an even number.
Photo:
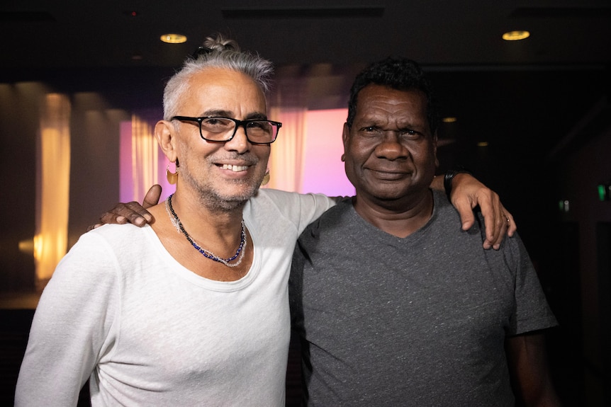
[[[266,114],[271,64],[220,37],[200,54],[169,80],[155,126],[176,192],[152,224],[95,229],[57,266],[16,406],[74,406],[88,378],[93,406],[284,406],[293,249],[335,201],[259,190],[281,127]],[[461,185],[469,214],[479,194],[505,223],[496,195]]]

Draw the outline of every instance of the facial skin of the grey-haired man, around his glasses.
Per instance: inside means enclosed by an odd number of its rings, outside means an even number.
[[[217,75],[217,81],[206,81],[211,75]],[[236,77],[239,80],[234,81]],[[191,88],[194,86],[203,86],[203,88],[201,92],[191,92],[181,99],[181,115],[191,116],[198,114],[195,112],[204,112],[204,115],[224,115],[239,120],[267,118],[262,91],[244,74],[211,68],[195,74],[189,83]],[[242,93],[236,93],[235,98],[232,98],[235,100],[228,100],[225,88],[227,86],[240,88]],[[204,93],[206,101],[201,100],[201,95]],[[238,98],[237,95],[241,97]],[[206,103],[210,105],[210,101],[215,100],[223,102],[206,108]],[[174,126],[179,130],[176,132],[176,148],[181,161],[181,179],[189,184],[189,189],[198,191],[198,202],[211,210],[223,212],[244,205],[261,184],[267,168],[269,145],[251,144],[246,139],[242,127],[237,129],[235,137],[229,142],[206,142],[201,139],[197,125],[181,127],[185,123],[179,123],[181,124],[174,123]],[[249,166],[247,171],[252,172],[252,175],[246,178],[223,176],[223,180],[220,181],[215,168],[222,168],[219,167],[222,164]],[[233,172],[229,169],[224,171]]]

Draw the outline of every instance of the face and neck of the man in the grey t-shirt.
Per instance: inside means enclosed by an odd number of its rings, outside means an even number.
[[[421,91],[370,84],[359,93],[351,127],[344,125],[346,174],[357,190],[354,208],[379,229],[405,237],[432,213],[423,193],[437,166],[437,137],[430,131]],[[405,209],[410,208],[410,209]],[[397,219],[413,225],[400,230]]]

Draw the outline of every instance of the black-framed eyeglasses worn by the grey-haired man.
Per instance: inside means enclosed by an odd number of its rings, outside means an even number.
[[[231,117],[174,116],[170,120],[198,122],[199,135],[207,142],[228,142],[235,136],[238,127],[244,127],[246,138],[252,144],[271,144],[276,141],[281,122],[271,120],[237,120]]]

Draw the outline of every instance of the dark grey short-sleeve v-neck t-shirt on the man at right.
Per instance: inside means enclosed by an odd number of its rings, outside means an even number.
[[[512,406],[505,337],[556,325],[518,236],[482,248],[434,193],[406,237],[350,199],[303,232],[289,282],[308,406]]]

